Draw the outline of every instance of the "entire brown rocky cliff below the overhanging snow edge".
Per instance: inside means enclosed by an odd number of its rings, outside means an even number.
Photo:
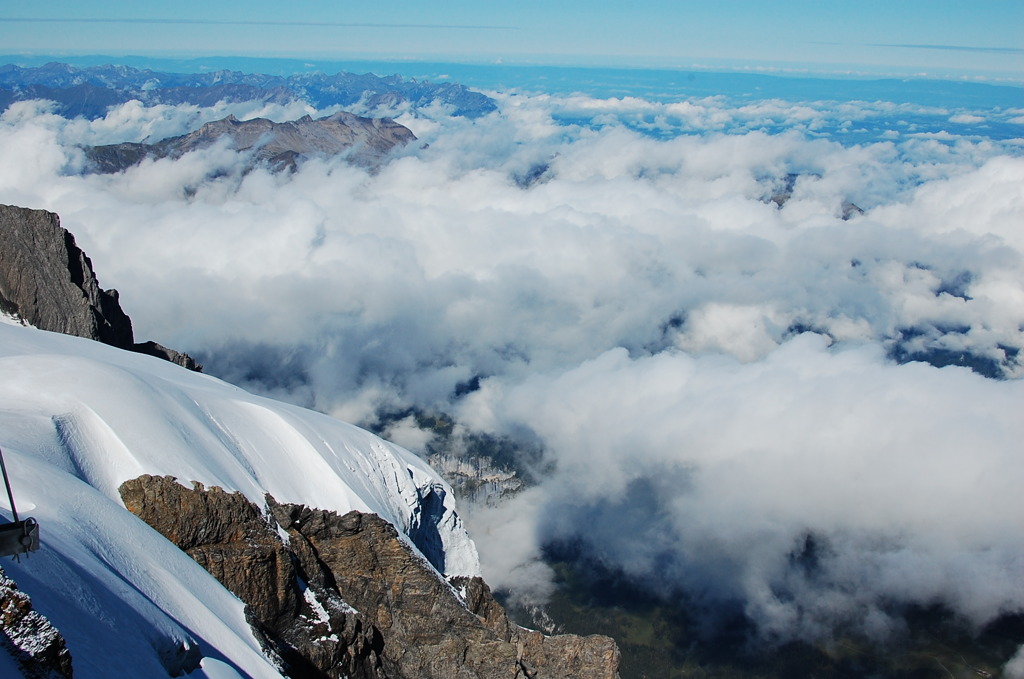
[[[614,679],[607,637],[511,624],[478,578],[446,582],[374,514],[344,516],[171,477],[121,489],[125,506],[245,601],[292,677]]]

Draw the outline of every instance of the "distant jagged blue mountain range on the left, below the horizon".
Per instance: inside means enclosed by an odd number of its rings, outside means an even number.
[[[15,101],[49,99],[57,113],[74,118],[101,118],[112,105],[137,99],[144,104],[219,101],[307,101],[325,109],[332,105],[393,109],[409,104],[449,107],[456,116],[476,118],[497,109],[495,101],[457,83],[435,84],[372,74],[306,73],[293,76],[215,71],[200,74],[161,73],[125,66],[75,68],[51,62],[38,68],[0,67],[0,108]]]

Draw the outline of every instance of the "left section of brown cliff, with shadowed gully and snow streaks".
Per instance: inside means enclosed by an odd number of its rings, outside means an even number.
[[[241,494],[172,477],[141,476],[120,489],[129,511],[210,571],[248,606],[250,624],[292,677],[382,679],[379,634],[296,565],[274,526]]]

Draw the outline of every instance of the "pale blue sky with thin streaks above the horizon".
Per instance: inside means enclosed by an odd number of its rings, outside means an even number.
[[[0,51],[967,74],[1024,80],[1022,0],[59,0],[0,6]]]

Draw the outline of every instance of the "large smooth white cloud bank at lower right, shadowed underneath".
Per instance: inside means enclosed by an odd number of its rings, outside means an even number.
[[[870,632],[881,602],[942,601],[977,625],[1024,606],[1022,398],[1020,381],[802,335],[748,364],[614,349],[492,378],[463,418],[545,441],[540,540],[814,637]]]

